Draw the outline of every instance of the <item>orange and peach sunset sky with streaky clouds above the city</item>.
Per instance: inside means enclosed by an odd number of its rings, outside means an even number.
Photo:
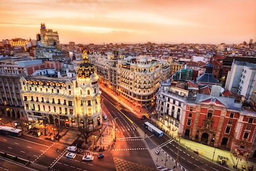
[[[0,40],[35,40],[41,23],[64,44],[249,43],[256,41],[256,1],[1,1]]]

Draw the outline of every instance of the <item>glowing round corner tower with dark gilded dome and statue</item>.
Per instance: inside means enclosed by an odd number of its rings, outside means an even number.
[[[77,80],[74,88],[74,106],[77,122],[96,128],[101,125],[100,87],[98,75],[90,64],[87,51],[83,51],[82,63],[77,68]]]

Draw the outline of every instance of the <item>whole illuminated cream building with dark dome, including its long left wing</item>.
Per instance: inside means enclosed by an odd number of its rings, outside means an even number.
[[[58,74],[56,78],[56,75],[48,73],[22,77],[20,83],[29,122],[65,127],[88,126],[91,130],[101,126],[101,91],[87,51],[83,52],[76,77],[60,77]]]

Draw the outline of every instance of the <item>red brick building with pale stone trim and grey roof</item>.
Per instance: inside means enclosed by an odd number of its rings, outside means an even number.
[[[197,94],[197,100],[187,103],[183,135],[198,143],[247,155],[254,144],[256,115],[241,109],[242,104],[234,98]]]

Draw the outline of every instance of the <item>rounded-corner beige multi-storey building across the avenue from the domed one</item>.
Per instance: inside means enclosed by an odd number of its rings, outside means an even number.
[[[132,57],[117,62],[117,93],[136,107],[150,107],[161,80],[161,64],[156,59]]]

